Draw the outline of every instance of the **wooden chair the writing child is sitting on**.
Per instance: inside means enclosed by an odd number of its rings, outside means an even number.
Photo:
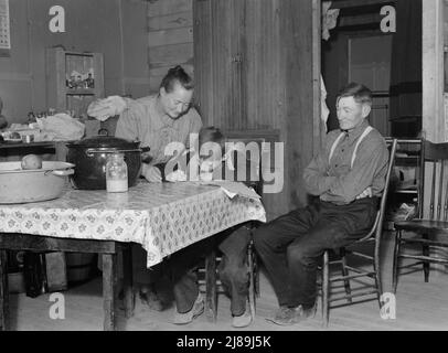
[[[227,133],[226,133],[227,135]],[[249,142],[256,142],[258,146],[258,169],[257,169],[257,174],[258,174],[258,180],[246,182],[246,184],[250,188],[253,188],[259,195],[263,195],[263,178],[262,173],[259,172],[262,170],[262,153],[263,153],[263,142],[265,142],[265,139],[263,138],[252,138],[252,137],[243,137],[239,136],[235,138],[231,138],[227,135],[227,142],[243,142],[243,143],[249,143]],[[233,160],[236,160],[236,154],[234,154]],[[236,165],[236,162],[235,162]],[[249,171],[246,170],[246,173]],[[247,174],[246,174],[247,175]],[[237,169],[235,169],[235,180],[237,176]],[[250,227],[255,228],[258,225],[258,222],[250,222]],[[221,280],[218,279],[217,276],[217,264],[221,261],[221,254],[220,252],[213,250],[205,257],[205,265],[203,268],[200,268],[199,271],[204,274],[204,278],[199,280],[200,285],[200,290],[202,292],[205,292],[205,313],[209,318],[210,321],[215,322],[216,317],[217,317],[217,295],[220,292],[223,292],[222,290],[222,284]],[[258,280],[258,267],[257,267],[257,258],[256,254],[254,250],[254,244],[250,240],[248,244],[247,248],[247,266],[248,266],[248,275],[249,275],[249,296],[248,296],[248,302],[249,302],[249,309],[250,309],[250,314],[253,318],[255,318],[255,301],[256,298],[259,296],[259,280]]]

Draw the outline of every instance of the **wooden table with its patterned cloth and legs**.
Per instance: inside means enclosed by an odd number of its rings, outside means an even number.
[[[127,193],[73,190],[47,202],[0,205],[0,329],[9,328],[7,250],[103,256],[104,329],[115,330],[117,254],[124,252],[125,308],[134,310],[130,244],[153,266],[193,243],[247,221],[266,221],[258,200],[230,199],[198,183],[140,182]]]

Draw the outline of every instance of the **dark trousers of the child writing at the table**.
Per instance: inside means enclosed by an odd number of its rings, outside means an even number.
[[[247,246],[250,236],[250,229],[241,225],[192,244],[171,256],[168,268],[171,271],[178,312],[183,313],[192,309],[199,295],[198,267],[217,246],[223,253],[217,270],[231,297],[232,314],[244,313],[248,296]]]

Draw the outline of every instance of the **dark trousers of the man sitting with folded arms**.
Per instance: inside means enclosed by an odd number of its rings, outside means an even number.
[[[348,205],[316,201],[254,232],[255,249],[280,306],[305,308],[316,301],[317,267],[326,249],[338,249],[366,235],[375,222],[377,199]]]

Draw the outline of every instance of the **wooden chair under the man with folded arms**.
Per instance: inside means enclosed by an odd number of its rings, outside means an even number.
[[[380,308],[382,306],[381,303],[381,296],[382,296],[382,282],[381,282],[381,277],[380,277],[380,246],[381,246],[381,236],[382,236],[382,231],[383,231],[383,221],[384,221],[384,214],[385,214],[385,208],[386,208],[386,199],[387,199],[387,192],[388,192],[388,186],[390,186],[390,179],[391,179],[391,173],[392,169],[394,165],[394,160],[395,160],[395,151],[397,147],[397,140],[388,140],[387,141],[390,145],[390,159],[388,159],[388,165],[387,165],[387,173],[386,173],[386,180],[385,180],[385,186],[383,191],[383,195],[380,201],[380,208],[376,214],[376,220],[375,223],[373,224],[372,228],[370,232],[362,237],[361,239],[356,240],[352,245],[348,247],[343,247],[339,249],[339,256],[335,256],[334,259],[330,258],[330,255],[338,255],[338,254],[332,254],[331,250],[326,250],[323,253],[323,264],[322,264],[322,318],[323,318],[323,324],[327,327],[329,323],[329,315],[330,315],[330,309],[331,308],[337,308],[341,306],[346,306],[353,303],[354,298],[362,298],[362,297],[370,297],[375,295],[376,299],[378,300]],[[363,244],[372,244],[374,245],[374,254],[373,256],[366,254],[365,252],[361,252],[358,248],[360,245]],[[350,266],[348,264],[348,255],[353,256],[356,259],[363,259],[363,260],[369,260],[370,265],[372,266],[372,269],[365,269],[361,266]],[[363,265],[365,261],[363,263]],[[330,266],[331,265],[340,265],[341,266],[341,271],[342,275],[335,276],[330,274]],[[359,280],[362,277],[366,277],[369,279],[373,279],[373,284],[367,284],[367,288],[361,287],[352,290],[351,287],[351,280]],[[335,282],[343,282],[344,285],[344,290],[345,295],[344,296],[332,296],[331,295],[331,289],[333,286],[330,286],[335,284]],[[374,298],[372,298],[374,299]],[[335,301],[341,301],[341,300],[346,300],[345,303],[339,303],[335,306],[331,306],[332,302]],[[369,300],[369,298],[364,298],[364,300]]]

